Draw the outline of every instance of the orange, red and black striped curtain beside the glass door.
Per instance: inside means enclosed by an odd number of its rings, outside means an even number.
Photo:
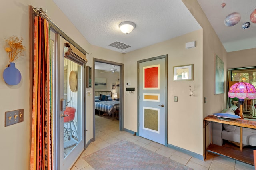
[[[53,169],[50,27],[34,17],[34,78],[30,170]]]

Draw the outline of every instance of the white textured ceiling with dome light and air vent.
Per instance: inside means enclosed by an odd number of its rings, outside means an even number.
[[[134,51],[199,30],[201,27],[181,0],[53,0],[92,45],[113,51]],[[130,34],[118,25],[131,21]],[[108,46],[121,42],[131,47]]]

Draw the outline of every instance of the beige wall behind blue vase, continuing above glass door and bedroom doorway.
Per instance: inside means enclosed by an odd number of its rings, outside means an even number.
[[[1,6],[0,21],[4,23],[0,36],[0,165],[6,170],[28,170],[30,164],[30,113],[29,113],[29,11],[28,6],[47,9],[47,15],[65,34],[67,34],[78,45],[92,53],[87,55],[88,64],[92,67],[93,57],[123,63],[123,55],[100,47],[90,45],[74,25],[64,16],[52,0],[8,0]],[[4,51],[5,39],[16,35],[24,40],[22,44],[26,47],[24,56],[16,61],[22,79],[18,85],[10,86],[4,82],[2,73],[8,65],[8,55]],[[86,89],[92,92],[91,88]],[[86,98],[87,112],[87,136],[86,141],[93,137],[92,122],[92,95]],[[24,121],[8,127],[4,127],[4,113],[16,109],[24,109]]]

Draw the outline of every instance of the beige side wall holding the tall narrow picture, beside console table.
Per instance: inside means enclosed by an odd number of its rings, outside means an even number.
[[[224,94],[214,95],[214,54],[217,54],[224,62],[224,83],[226,84],[227,53],[198,2],[196,0],[182,1],[203,28],[203,97],[206,97],[207,101],[203,104],[203,116],[206,117],[211,113],[222,111],[226,106],[225,85]]]

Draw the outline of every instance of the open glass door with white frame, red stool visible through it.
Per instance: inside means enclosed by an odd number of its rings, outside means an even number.
[[[66,42],[60,37],[60,169],[71,168],[84,150],[84,65],[64,57]]]

